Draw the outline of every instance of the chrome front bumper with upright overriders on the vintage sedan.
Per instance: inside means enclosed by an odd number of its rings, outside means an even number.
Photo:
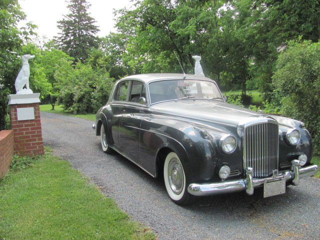
[[[246,177],[244,179],[225,180],[214,183],[191,183],[188,186],[188,192],[195,196],[215,195],[236,191],[245,191],[248,195],[253,194],[255,187],[262,186],[265,182],[278,180],[292,181],[293,185],[299,184],[299,179],[314,175],[318,166],[315,164],[300,167],[299,160],[291,161],[291,169],[278,172],[273,171],[273,175],[266,178],[253,178],[251,167],[246,168]]]

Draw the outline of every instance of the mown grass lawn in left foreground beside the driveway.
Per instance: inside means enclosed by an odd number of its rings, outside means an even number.
[[[67,161],[50,152],[14,159],[20,169],[0,179],[0,239],[155,238]]]

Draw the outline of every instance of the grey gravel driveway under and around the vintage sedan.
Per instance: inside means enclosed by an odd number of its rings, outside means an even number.
[[[44,144],[87,175],[132,219],[159,239],[320,239],[318,179],[302,179],[285,194],[202,197],[191,206],[170,201],[164,184],[117,153],[105,154],[93,122],[41,112]]]

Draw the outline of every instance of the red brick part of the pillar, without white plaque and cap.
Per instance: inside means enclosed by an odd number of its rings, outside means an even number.
[[[43,154],[39,103],[12,104],[10,106],[11,128],[14,133],[14,153],[18,155]],[[34,119],[17,120],[16,108],[34,107]]]

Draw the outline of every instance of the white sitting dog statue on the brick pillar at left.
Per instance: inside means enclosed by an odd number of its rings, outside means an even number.
[[[34,55],[29,55],[29,54],[23,55],[21,57],[22,67],[21,67],[18,75],[16,76],[15,83],[14,83],[16,94],[33,93],[29,87],[30,67],[29,67],[29,63],[28,63],[28,60],[33,57],[34,57]],[[26,88],[23,88],[24,85]]]

